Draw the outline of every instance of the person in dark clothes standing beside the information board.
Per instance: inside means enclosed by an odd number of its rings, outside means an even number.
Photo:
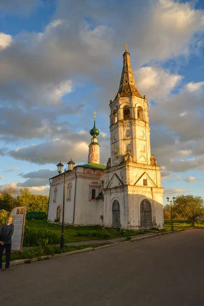
[[[11,270],[11,236],[13,235],[14,225],[12,224],[13,218],[8,218],[6,223],[1,227],[0,237],[0,271],[2,269],[2,256],[3,251],[6,249],[6,268],[5,271]]]

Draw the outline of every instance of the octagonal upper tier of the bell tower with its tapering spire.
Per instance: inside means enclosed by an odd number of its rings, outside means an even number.
[[[111,166],[122,162],[127,149],[132,161],[150,165],[148,103],[137,90],[127,49],[118,93],[110,100],[110,109]]]

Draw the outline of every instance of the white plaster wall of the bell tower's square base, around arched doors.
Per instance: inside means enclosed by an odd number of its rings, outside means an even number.
[[[139,229],[141,224],[140,204],[143,199],[148,199],[151,203],[152,226],[163,228],[163,188],[153,185],[135,186],[139,177],[146,172],[150,179],[156,184],[161,184],[160,167],[150,165],[139,165],[127,163],[105,170],[104,189],[104,224],[112,226],[112,202],[117,199],[120,203],[121,227]],[[156,175],[157,172],[157,175]],[[123,182],[123,186],[117,187],[117,181],[112,177],[117,174]],[[114,184],[111,184],[114,182]],[[119,182],[119,181],[118,181]],[[160,185],[161,186],[161,185]]]

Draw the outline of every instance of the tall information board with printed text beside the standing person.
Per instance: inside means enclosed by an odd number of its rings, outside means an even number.
[[[23,233],[25,225],[25,206],[15,207],[10,217],[13,218],[14,232],[11,238],[11,251],[22,252]]]

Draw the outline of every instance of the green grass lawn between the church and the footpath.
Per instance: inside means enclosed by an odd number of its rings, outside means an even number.
[[[62,226],[57,224],[48,223],[46,220],[28,220],[26,223],[31,230],[47,230],[55,232],[61,237]],[[64,242],[79,242],[90,240],[104,240],[118,237],[128,237],[140,234],[146,234],[148,231],[120,231],[113,230],[112,228],[101,228],[96,226],[65,226],[64,227]]]

